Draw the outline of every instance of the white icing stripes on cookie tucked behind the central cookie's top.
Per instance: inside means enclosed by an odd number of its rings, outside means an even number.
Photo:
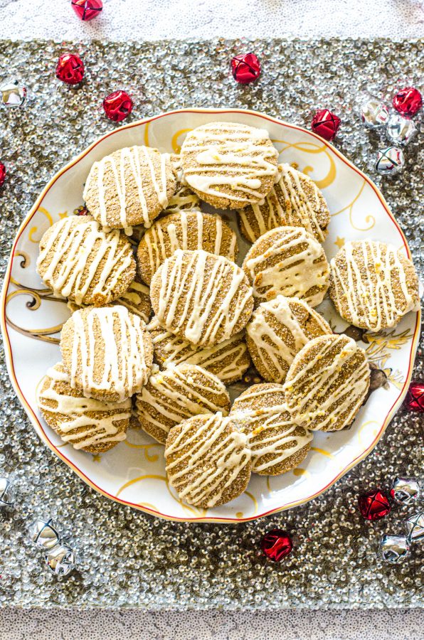
[[[170,257],[177,249],[196,250],[203,249],[203,230],[204,223],[213,222],[215,228],[211,232],[208,231],[208,240],[211,236],[215,238],[213,252],[220,255],[223,250],[223,220],[221,215],[204,214],[201,211],[181,211],[171,218],[162,218],[154,223],[152,227],[144,234],[142,246],[147,248],[149,255],[149,279],[153,276],[160,265]],[[209,225],[208,225],[209,226]],[[180,233],[178,233],[180,232]],[[235,258],[235,245],[237,239],[235,233],[231,232],[231,241],[226,257],[228,260]]]

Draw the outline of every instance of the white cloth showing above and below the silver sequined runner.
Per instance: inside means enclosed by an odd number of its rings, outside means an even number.
[[[70,0],[0,0],[0,38],[419,38],[421,0],[104,0],[82,23]],[[1,60],[0,60],[1,68]],[[404,640],[420,612],[0,612],[0,640]]]

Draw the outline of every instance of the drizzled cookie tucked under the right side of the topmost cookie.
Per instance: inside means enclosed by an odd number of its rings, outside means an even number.
[[[250,242],[277,227],[303,227],[318,242],[324,242],[330,221],[327,203],[314,181],[280,164],[280,181],[272,187],[263,204],[240,209],[240,231]]]

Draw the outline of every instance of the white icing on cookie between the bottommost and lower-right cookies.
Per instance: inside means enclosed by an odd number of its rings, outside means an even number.
[[[248,436],[248,444],[252,449],[252,471],[264,474],[270,467],[281,464],[287,458],[306,447],[312,440],[312,432],[296,425],[287,405],[272,404],[274,385],[253,385],[237,398],[230,411],[230,419]],[[270,402],[270,406],[263,406],[260,400]],[[251,402],[252,407],[245,407],[245,402]],[[254,408],[255,404],[258,408]],[[303,434],[295,434],[303,429]],[[267,454],[272,457],[267,461],[263,458]]]

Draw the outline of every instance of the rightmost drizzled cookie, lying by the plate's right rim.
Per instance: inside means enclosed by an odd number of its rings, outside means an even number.
[[[342,318],[369,331],[395,326],[420,305],[413,263],[393,245],[346,242],[331,262],[329,294]]]

